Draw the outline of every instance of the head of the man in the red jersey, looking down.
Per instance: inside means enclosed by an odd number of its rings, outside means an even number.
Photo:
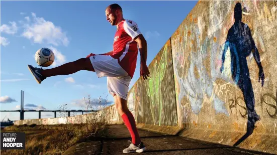
[[[106,8],[105,11],[107,21],[112,26],[118,25],[123,20],[122,9],[118,4],[112,4]]]

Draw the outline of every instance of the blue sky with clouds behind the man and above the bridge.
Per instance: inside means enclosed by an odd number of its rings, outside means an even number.
[[[147,65],[177,29],[197,1],[2,1],[1,2],[1,110],[20,108],[24,90],[25,109],[85,109],[83,97],[108,99],[107,78],[94,72],[47,78],[38,84],[27,64],[38,66],[35,52],[48,47],[55,53],[52,67],[112,50],[116,27],[106,21],[105,9],[117,3],[125,19],[138,24],[148,43]],[[130,88],[139,78],[140,55]],[[1,112],[1,120],[20,118],[19,112]],[[43,112],[42,118],[53,117]],[[7,119],[5,118],[5,120]],[[26,112],[25,119],[38,118]]]

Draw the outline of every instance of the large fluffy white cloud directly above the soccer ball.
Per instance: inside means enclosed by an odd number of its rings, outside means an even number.
[[[22,34],[24,37],[38,44],[68,45],[69,40],[66,37],[66,33],[60,27],[55,26],[50,21],[46,21],[44,18],[36,17],[35,13],[32,13],[32,18],[33,23],[24,25],[25,30]],[[25,19],[29,20],[28,18]]]

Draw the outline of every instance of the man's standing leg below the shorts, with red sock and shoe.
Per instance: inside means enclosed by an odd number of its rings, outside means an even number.
[[[132,143],[128,148],[125,148],[123,152],[124,153],[143,152],[146,149],[146,147],[143,144],[143,142],[140,140],[140,136],[136,127],[136,122],[133,114],[128,109],[127,101],[125,99],[120,98],[117,95],[114,96],[114,99],[115,99],[117,111],[121,115],[132,137]]]

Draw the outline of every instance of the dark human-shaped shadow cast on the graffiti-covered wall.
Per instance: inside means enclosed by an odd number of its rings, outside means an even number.
[[[234,8],[235,23],[229,29],[227,39],[225,42],[223,54],[222,54],[222,66],[220,72],[224,71],[225,54],[229,47],[231,54],[231,73],[232,79],[235,84],[241,89],[244,97],[244,102],[247,108],[247,130],[246,133],[233,145],[237,146],[244,139],[253,133],[254,124],[260,120],[259,115],[256,113],[255,98],[250,80],[249,69],[247,66],[246,57],[248,57],[252,50],[253,56],[259,68],[259,82],[261,80],[261,86],[264,83],[264,74],[262,65],[260,62],[260,56],[258,49],[252,38],[250,29],[247,24],[244,24],[242,20],[242,7],[240,3],[237,3]]]

